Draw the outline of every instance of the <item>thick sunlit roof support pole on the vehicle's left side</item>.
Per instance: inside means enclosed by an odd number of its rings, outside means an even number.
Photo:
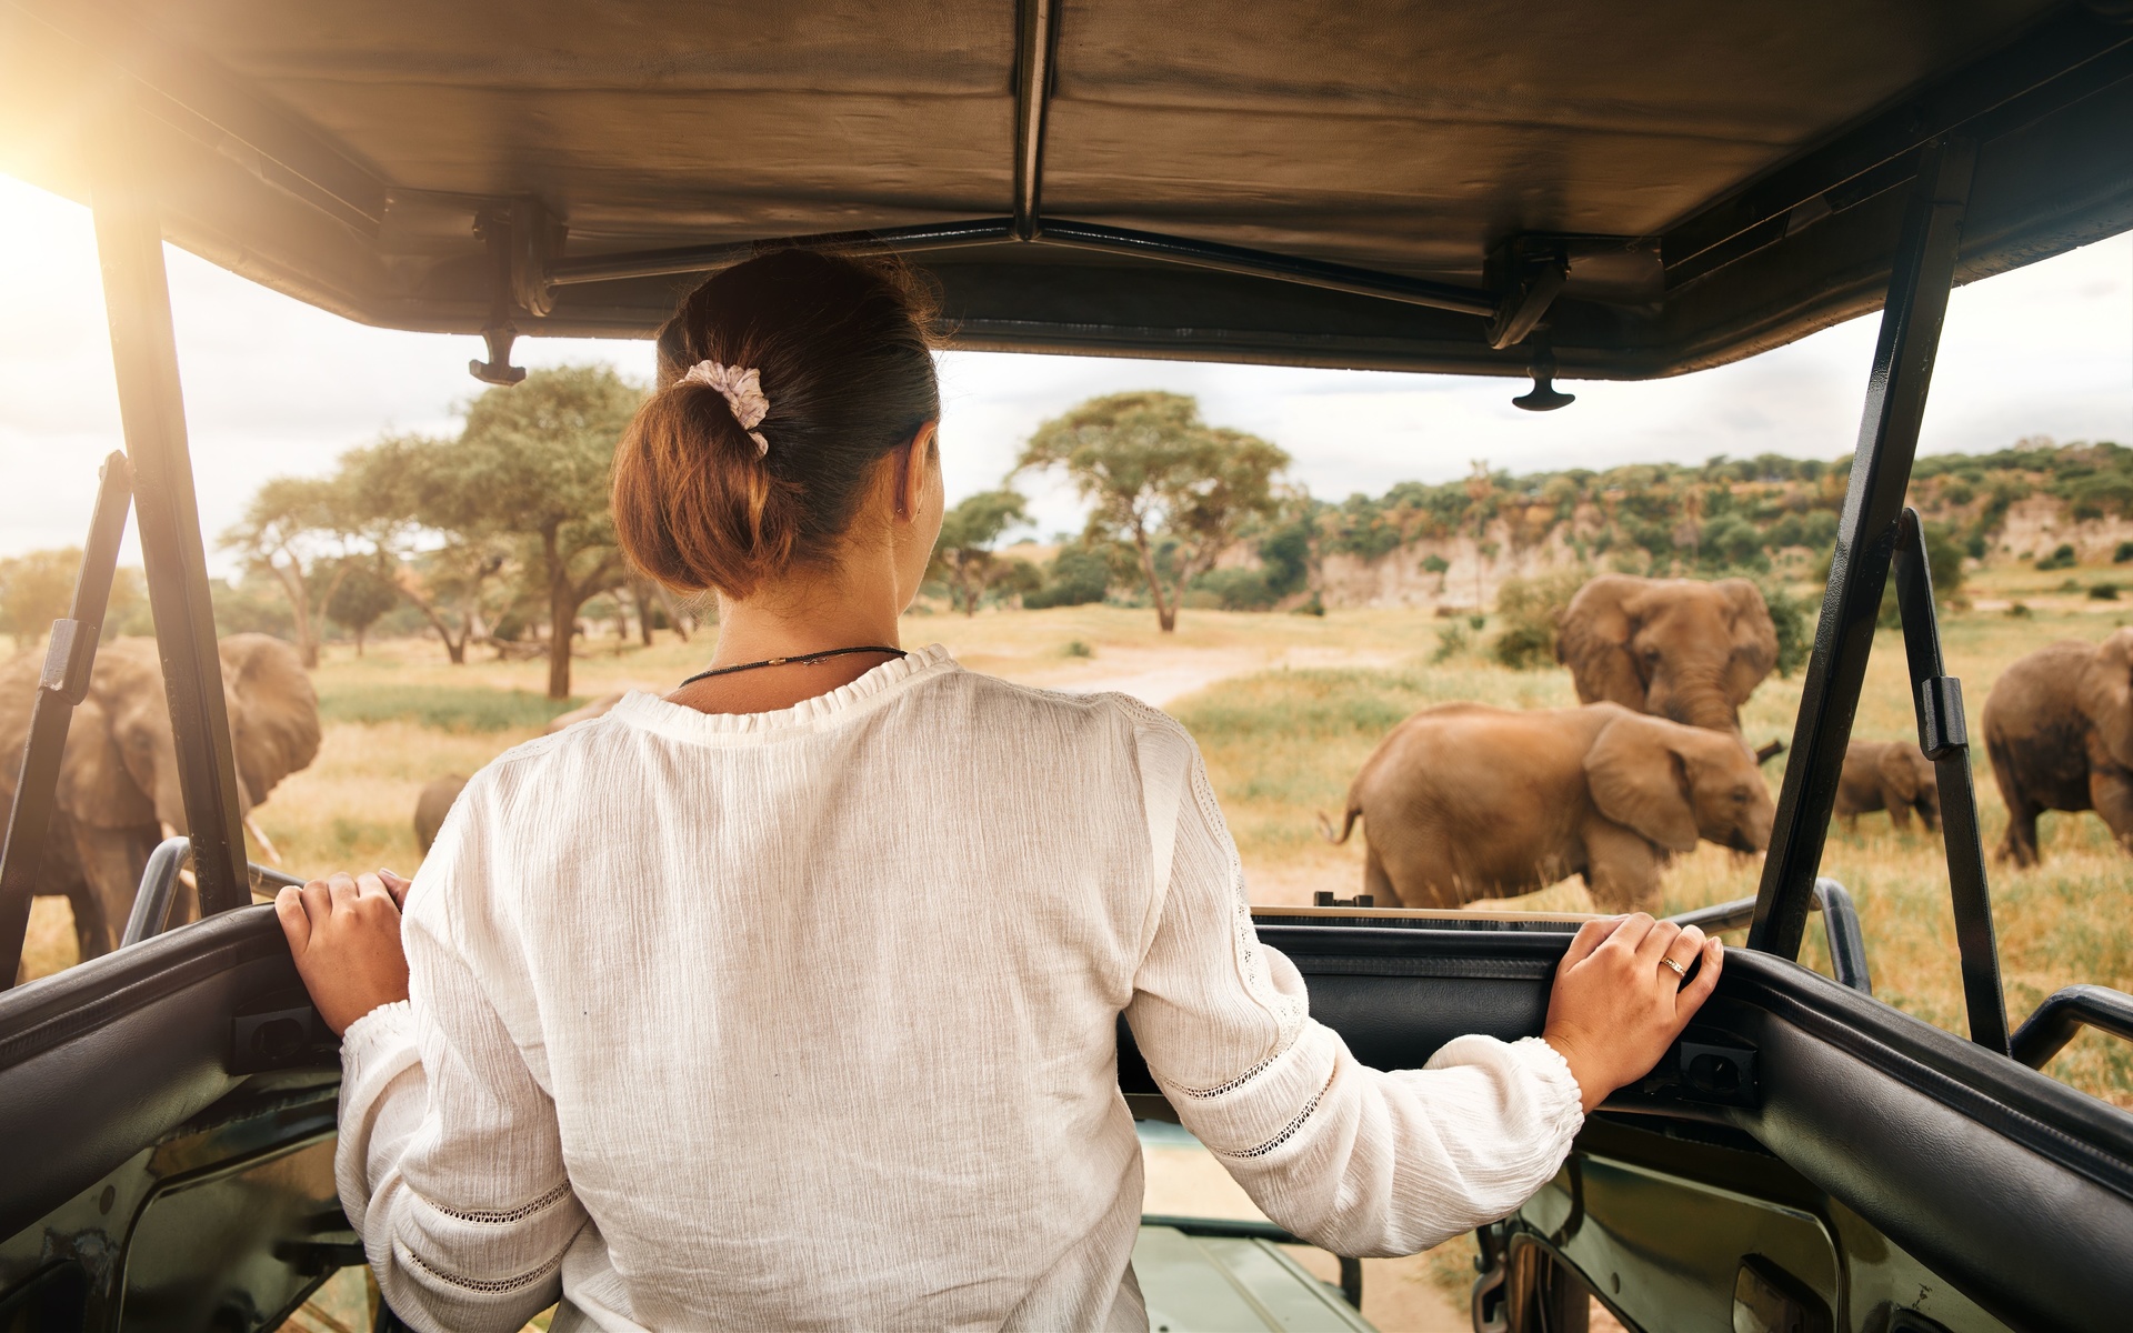
[[[111,136],[117,151],[94,183],[96,256],[111,322],[126,459],[134,473],[134,516],[156,614],[156,651],[171,700],[177,772],[186,793],[186,832],[201,885],[201,913],[252,902],[243,874],[243,808],[230,717],[215,653],[215,616],[207,597],[207,552],[201,510],[192,495],[192,452],[186,444],[186,401],[177,378],[171,288],[162,267],[162,224],[149,192],[151,162],[139,160],[141,136],[126,126]]]

